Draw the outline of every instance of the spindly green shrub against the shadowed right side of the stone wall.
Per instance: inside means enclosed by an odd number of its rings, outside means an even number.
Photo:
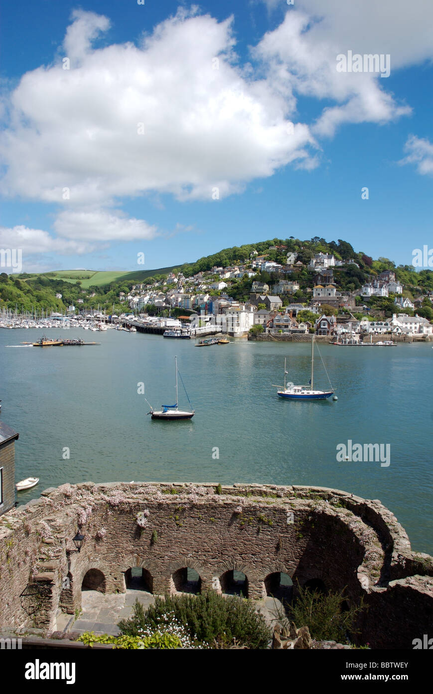
[[[298,595],[293,604],[288,606],[290,618],[297,627],[308,627],[312,638],[317,641],[337,641],[349,643],[351,635],[357,634],[355,620],[358,614],[366,609],[363,599],[356,607],[342,609],[345,588],[340,593],[321,593],[310,591],[297,585]]]

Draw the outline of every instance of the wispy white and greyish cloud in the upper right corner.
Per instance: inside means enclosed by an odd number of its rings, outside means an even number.
[[[391,4],[390,17],[384,5]],[[399,4],[407,13],[400,0],[358,4],[301,0],[254,49],[254,56],[267,64],[268,82],[273,81],[275,89],[285,92],[287,98],[299,94],[334,102],[324,108],[311,128],[317,137],[333,136],[344,123],[383,124],[411,112],[386,91],[386,78],[378,73],[337,71],[337,56],[349,50],[361,55],[389,54],[391,74],[393,69],[433,56],[425,31],[421,32],[422,49],[416,41],[412,41],[412,50],[407,49],[405,15],[394,21]],[[418,0],[414,4],[420,10]],[[394,26],[391,40],[390,25]],[[400,44],[405,44],[403,55]]]

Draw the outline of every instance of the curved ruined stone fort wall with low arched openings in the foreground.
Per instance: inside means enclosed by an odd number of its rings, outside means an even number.
[[[80,551],[73,543],[84,536]],[[82,589],[124,592],[141,569],[155,595],[184,589],[264,598],[281,576],[364,598],[358,643],[412,649],[431,634],[433,558],[412,552],[378,500],[336,489],[260,484],[64,484],[0,518],[0,629],[53,632]],[[301,625],[298,625],[301,626]]]

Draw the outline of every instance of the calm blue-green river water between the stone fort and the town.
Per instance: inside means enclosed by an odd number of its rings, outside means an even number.
[[[412,547],[433,553],[430,344],[322,345],[339,399],[308,403],[282,400],[272,388],[283,380],[284,357],[288,378],[308,382],[308,344],[242,340],[197,350],[193,340],[138,332],[47,330],[101,344],[6,348],[41,335],[0,330],[1,418],[19,432],[17,480],[40,477],[20,501],[88,480],[315,484],[380,499]],[[175,402],[175,355],[195,417],[152,421],[144,397],[154,407]],[[325,388],[316,359],[315,385]],[[186,405],[179,383],[179,406]],[[389,443],[391,464],[337,462],[336,446],[348,439]]]

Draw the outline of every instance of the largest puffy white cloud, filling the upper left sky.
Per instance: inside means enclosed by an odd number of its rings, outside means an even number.
[[[68,187],[72,206],[150,192],[211,200],[213,187],[227,196],[309,160],[308,126],[288,136],[283,96],[236,65],[231,17],[182,10],[139,47],[93,51],[107,20],[73,17],[65,52],[79,57],[76,67],[60,60],[28,72],[12,93],[3,194],[62,204]]]

